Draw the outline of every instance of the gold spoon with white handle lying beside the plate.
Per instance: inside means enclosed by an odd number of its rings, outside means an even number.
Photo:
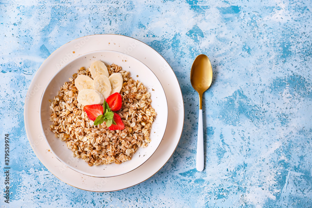
[[[198,55],[193,62],[191,69],[191,84],[199,94],[199,117],[198,117],[198,134],[197,134],[197,152],[196,152],[196,169],[204,169],[204,142],[202,133],[202,94],[211,85],[212,67],[209,58],[204,55]]]

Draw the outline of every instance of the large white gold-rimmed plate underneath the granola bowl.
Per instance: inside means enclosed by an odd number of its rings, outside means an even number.
[[[110,178],[86,176],[65,166],[49,151],[42,136],[39,123],[41,94],[52,75],[62,65],[79,54],[98,50],[123,52],[143,62],[159,79],[168,102],[168,125],[163,140],[152,157],[135,170]],[[75,53],[73,53],[74,51]],[[47,169],[57,178],[71,186],[87,191],[117,191],[147,180],[169,160],[182,134],[184,105],[181,89],[173,70],[166,60],[153,48],[127,36],[93,35],[66,43],[43,62],[28,89],[24,120],[26,133],[34,152]]]

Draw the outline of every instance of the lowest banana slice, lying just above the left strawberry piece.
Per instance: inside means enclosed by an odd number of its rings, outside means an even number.
[[[77,101],[81,105],[103,104],[103,95],[95,89],[83,89],[78,92]]]

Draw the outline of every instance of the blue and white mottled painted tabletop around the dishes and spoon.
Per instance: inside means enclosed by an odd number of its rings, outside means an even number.
[[[1,170],[11,138],[9,207],[312,207],[310,0],[0,0]],[[42,62],[81,36],[137,38],[172,66],[183,93],[178,148],[149,180],[92,193],[51,174],[25,132],[27,89]],[[207,54],[205,169],[195,169],[198,98],[189,82]],[[4,188],[0,174],[0,189]],[[4,204],[0,197],[0,205]]]

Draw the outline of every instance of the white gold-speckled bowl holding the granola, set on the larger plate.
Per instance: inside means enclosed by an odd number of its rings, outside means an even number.
[[[64,82],[69,81],[69,78],[72,77],[74,73],[77,73],[77,70],[80,67],[83,66],[87,68],[95,60],[101,60],[105,65],[111,65],[113,63],[119,65],[123,70],[130,72],[132,79],[142,82],[151,94],[151,105],[157,113],[149,137],[151,142],[145,148],[138,148],[132,155],[131,160],[121,164],[111,163],[108,165],[103,164],[90,167],[81,158],[73,157],[73,152],[66,147],[66,143],[59,138],[56,138],[54,133],[50,131],[50,125],[52,122],[49,120],[51,115],[49,100],[54,99],[54,96],[57,95],[57,92],[60,90],[60,87],[64,85]],[[134,170],[146,162],[158,148],[165,133],[168,119],[166,95],[156,75],[146,65],[134,57],[121,52],[107,50],[92,51],[82,54],[61,67],[46,85],[41,96],[39,109],[41,131],[46,144],[54,156],[64,164],[63,167],[59,167],[60,170],[62,168],[70,167],[77,172],[93,177],[112,177],[122,175]]]

